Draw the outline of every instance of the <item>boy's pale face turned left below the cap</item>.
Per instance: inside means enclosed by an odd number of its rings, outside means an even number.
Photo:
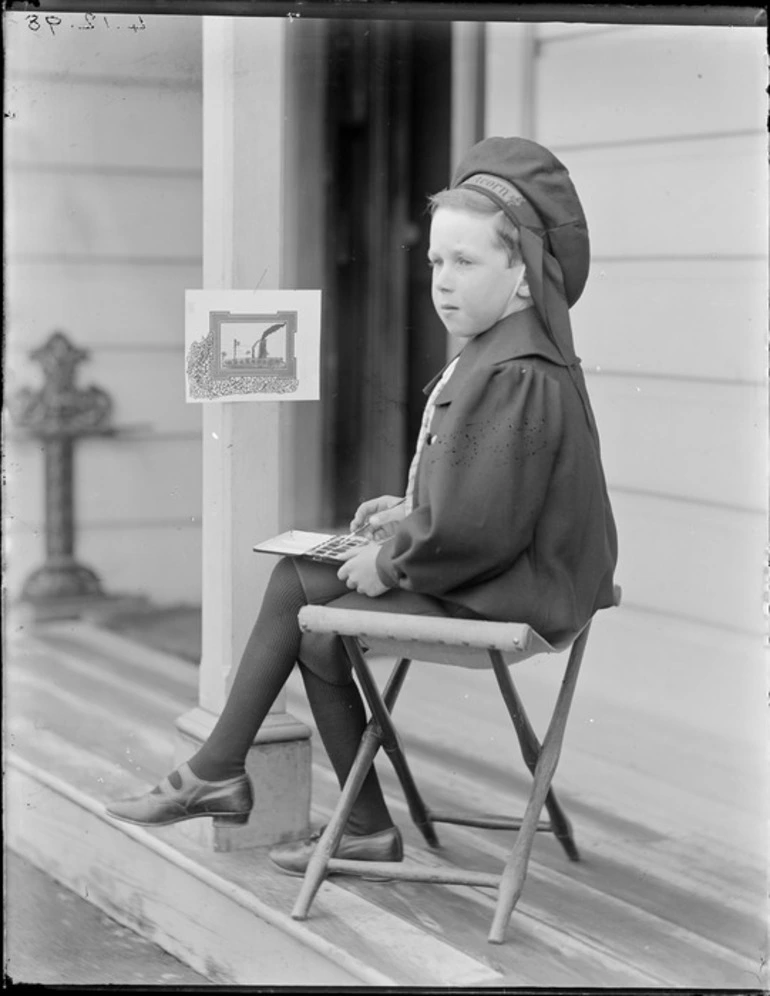
[[[430,228],[428,260],[433,306],[451,335],[472,339],[529,305],[517,297],[524,264],[508,261],[491,216],[438,208]]]

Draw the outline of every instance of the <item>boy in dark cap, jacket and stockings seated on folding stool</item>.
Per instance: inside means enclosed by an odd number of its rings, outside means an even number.
[[[352,526],[373,541],[339,569],[279,561],[209,738],[151,792],[110,805],[114,818],[245,822],[245,758],[295,664],[344,784],[366,713],[339,640],[300,633],[303,605],[516,621],[560,642],[612,604],[615,526],[568,310],[588,233],[567,171],[534,142],[487,139],[431,207],[433,303],[462,349],[433,385],[405,500],[361,505]],[[315,839],[271,858],[301,874]],[[401,859],[374,768],[336,853]]]

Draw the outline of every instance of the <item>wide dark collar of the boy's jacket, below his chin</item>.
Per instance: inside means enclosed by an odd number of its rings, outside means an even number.
[[[438,400],[450,401],[457,389],[463,386],[467,376],[478,367],[494,366],[524,356],[542,356],[558,366],[567,365],[551,342],[534,307],[508,315],[488,331],[471,339],[460,352],[457,367]],[[425,394],[433,390],[444,370],[426,385],[423,389]]]

